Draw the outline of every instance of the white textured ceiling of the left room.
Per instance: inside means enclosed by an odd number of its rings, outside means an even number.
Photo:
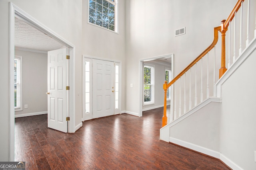
[[[60,49],[64,46],[18,18],[15,18],[14,36],[15,47],[39,51],[51,51]]]

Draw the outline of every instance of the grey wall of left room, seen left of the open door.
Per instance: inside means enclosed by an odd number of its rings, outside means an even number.
[[[23,66],[23,110],[15,115],[47,111],[47,54],[15,50],[15,55],[22,56]]]

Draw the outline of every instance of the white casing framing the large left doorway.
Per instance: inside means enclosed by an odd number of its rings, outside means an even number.
[[[51,37],[55,41],[58,41],[63,46],[67,47],[69,49],[70,53],[70,68],[68,71],[68,74],[70,75],[69,85],[71,87],[74,87],[74,59],[75,59],[75,51],[74,51],[74,45],[66,41],[64,38],[60,37],[56,33],[54,33],[52,30],[50,30],[48,27],[34,19],[32,16],[28,15],[26,12],[15,6],[10,2],[10,41],[9,41],[9,47],[10,47],[10,55],[9,55],[9,68],[10,68],[10,161],[14,161],[14,136],[15,136],[15,130],[14,130],[14,123],[15,123],[15,109],[14,109],[14,55],[15,55],[15,18],[19,18],[20,20],[23,20],[28,25],[34,27],[38,31],[44,33],[45,35]],[[75,132],[75,108],[74,108],[74,88],[70,88],[70,98],[69,98],[69,108],[70,113],[67,115],[70,117],[70,123],[69,123],[69,133]]]

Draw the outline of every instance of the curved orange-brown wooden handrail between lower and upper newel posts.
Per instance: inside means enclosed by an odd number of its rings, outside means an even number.
[[[185,74],[186,71],[188,71],[192,66],[194,66],[194,64],[196,64],[200,59],[202,59],[204,55],[206,55],[211,49],[213,49],[213,47],[218,42],[218,31],[220,31],[220,29],[221,29],[221,26],[214,27],[214,39],[212,44],[209,47],[207,47],[207,49],[205,49],[198,57],[196,57],[196,59],[194,59],[192,63],[190,63],[186,68],[184,68],[184,70],[182,70],[180,74],[178,74],[174,79],[172,79],[172,81],[170,81],[167,84],[166,88],[169,88],[174,82],[176,82],[176,80],[178,80],[183,74]]]

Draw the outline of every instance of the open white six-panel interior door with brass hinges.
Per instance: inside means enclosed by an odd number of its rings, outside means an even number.
[[[68,115],[68,60],[67,49],[48,51],[48,127],[67,131]],[[40,63],[39,63],[40,64]]]

